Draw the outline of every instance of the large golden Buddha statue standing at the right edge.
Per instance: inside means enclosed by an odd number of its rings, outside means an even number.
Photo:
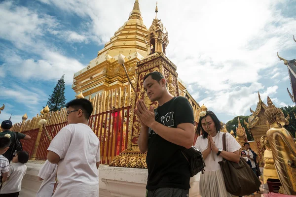
[[[266,132],[278,177],[287,195],[296,195],[296,144],[283,126],[287,123],[283,111],[267,97],[264,115],[270,125]]]

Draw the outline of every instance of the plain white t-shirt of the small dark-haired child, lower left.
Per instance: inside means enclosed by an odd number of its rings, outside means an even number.
[[[21,191],[22,180],[27,166],[22,163],[10,163],[9,178],[3,183],[0,194],[10,194]]]

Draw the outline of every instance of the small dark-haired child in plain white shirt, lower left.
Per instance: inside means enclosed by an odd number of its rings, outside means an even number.
[[[25,164],[28,160],[29,153],[27,151],[19,151],[16,153],[10,164],[9,177],[2,185],[0,197],[19,196],[22,187],[22,180],[27,170],[27,166]]]

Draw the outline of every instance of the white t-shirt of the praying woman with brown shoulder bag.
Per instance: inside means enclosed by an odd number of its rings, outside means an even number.
[[[213,137],[213,141],[215,142],[215,145],[217,148],[223,149],[223,141],[222,141],[222,135],[223,132],[218,132],[215,137]],[[235,152],[241,148],[241,145],[235,140],[235,138],[228,132],[226,132],[226,151],[227,152]],[[202,135],[197,137],[197,140],[194,145],[198,150],[201,152],[205,151],[208,148],[208,139],[203,139]],[[214,157],[215,161],[214,161]],[[217,169],[221,169],[220,164],[218,162],[221,162],[223,160],[222,156],[217,156],[216,153],[211,151],[211,153],[208,155],[208,157],[205,160],[205,168],[206,171],[215,171]]]

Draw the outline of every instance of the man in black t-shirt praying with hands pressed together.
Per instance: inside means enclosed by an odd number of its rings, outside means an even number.
[[[138,146],[147,151],[147,197],[188,197],[190,169],[182,151],[194,141],[193,110],[184,97],[173,97],[160,72],[144,77],[148,98],[158,101],[158,108],[148,109],[138,100],[135,109],[142,125]]]

